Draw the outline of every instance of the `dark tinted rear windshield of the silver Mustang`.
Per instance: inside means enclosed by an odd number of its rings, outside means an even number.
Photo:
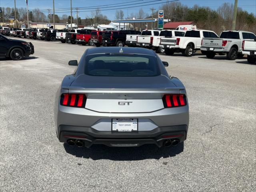
[[[85,74],[91,76],[158,76],[154,56],[94,54],[86,56]]]

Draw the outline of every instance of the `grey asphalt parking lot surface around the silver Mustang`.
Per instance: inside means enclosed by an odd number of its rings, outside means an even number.
[[[246,58],[160,55],[188,92],[184,145],[87,149],[58,142],[54,97],[90,46],[26,41],[29,59],[0,59],[0,191],[256,190],[256,65]]]

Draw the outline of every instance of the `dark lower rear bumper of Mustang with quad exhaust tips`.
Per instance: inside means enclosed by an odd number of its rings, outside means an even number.
[[[186,125],[158,127],[151,131],[138,132],[110,132],[98,131],[91,127],[67,126],[58,127],[60,142],[80,140],[86,147],[92,144],[104,144],[110,147],[134,147],[144,144],[163,146],[166,140],[186,140],[188,127]]]

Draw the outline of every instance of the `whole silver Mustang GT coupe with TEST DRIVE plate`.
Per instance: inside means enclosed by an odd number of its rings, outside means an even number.
[[[56,95],[55,124],[70,146],[175,146],[186,140],[186,90],[153,50],[90,48]]]

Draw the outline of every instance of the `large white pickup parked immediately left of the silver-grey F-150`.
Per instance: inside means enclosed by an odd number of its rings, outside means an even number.
[[[192,56],[194,51],[200,50],[203,37],[218,38],[218,35],[208,30],[188,30],[184,37],[163,37],[160,44],[164,45],[164,52],[167,55],[181,52],[189,57]]]

